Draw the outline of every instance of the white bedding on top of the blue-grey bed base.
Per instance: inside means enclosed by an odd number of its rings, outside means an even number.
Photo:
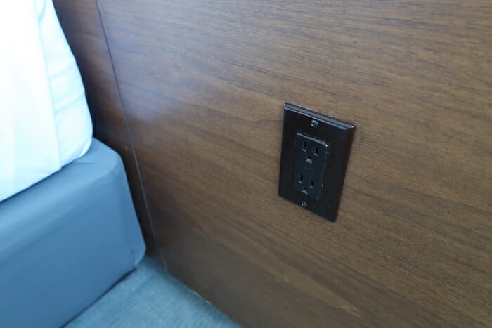
[[[0,201],[81,157],[92,123],[51,0],[0,9]]]

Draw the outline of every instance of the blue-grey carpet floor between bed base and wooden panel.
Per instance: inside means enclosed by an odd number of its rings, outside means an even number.
[[[238,328],[151,258],[75,317],[67,328]]]

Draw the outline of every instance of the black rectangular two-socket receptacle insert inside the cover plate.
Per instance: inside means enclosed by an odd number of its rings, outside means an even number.
[[[292,177],[294,190],[316,200],[320,198],[328,149],[328,143],[297,133]]]

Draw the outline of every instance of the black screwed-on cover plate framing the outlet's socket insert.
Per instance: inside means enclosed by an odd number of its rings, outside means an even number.
[[[310,211],[335,221],[349,159],[355,124],[309,110],[284,104],[282,155],[278,195]],[[321,140],[329,147],[325,159],[321,192],[318,199],[293,188],[296,138],[299,134]]]

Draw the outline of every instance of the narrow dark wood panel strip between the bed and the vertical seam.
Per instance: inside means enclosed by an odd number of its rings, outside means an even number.
[[[148,254],[157,256],[138,167],[95,0],[53,1],[86,89],[94,136],[122,156]]]

